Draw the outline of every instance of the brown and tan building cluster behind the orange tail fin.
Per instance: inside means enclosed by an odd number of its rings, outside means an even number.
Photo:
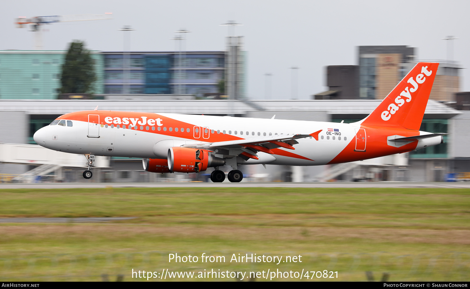
[[[326,86],[313,99],[384,99],[420,61],[439,62],[430,99],[454,101],[460,91],[458,61],[417,60],[416,48],[408,46],[358,46],[359,65],[326,68]]]

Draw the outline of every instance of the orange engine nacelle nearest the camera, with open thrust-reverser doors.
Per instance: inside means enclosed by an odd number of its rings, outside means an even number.
[[[223,165],[224,159],[212,156],[207,150],[180,146],[168,149],[168,167],[172,172],[199,173]]]

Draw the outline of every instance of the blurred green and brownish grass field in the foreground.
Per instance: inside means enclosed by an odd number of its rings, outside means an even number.
[[[389,273],[391,281],[470,275],[467,189],[16,189],[0,190],[0,200],[2,218],[136,217],[2,223],[2,281],[99,281],[102,274],[131,281],[131,268],[337,271],[329,281],[366,280],[365,271],[376,280]],[[227,262],[168,263],[175,252]],[[304,261],[234,264],[233,253],[300,254]]]

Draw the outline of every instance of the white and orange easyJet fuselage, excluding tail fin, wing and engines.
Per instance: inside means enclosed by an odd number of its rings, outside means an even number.
[[[90,117],[96,119],[96,124],[89,122]],[[65,120],[65,126],[51,125],[41,129],[35,135],[39,145],[76,154],[149,159],[166,158],[167,146],[162,146],[161,152],[155,148],[156,144],[166,140],[174,140],[175,146],[180,146],[238,139],[249,141],[276,135],[309,135],[320,130],[318,140],[314,137],[297,139],[295,150],[280,147],[273,150],[274,155],[260,152],[259,160],[239,161],[290,166],[318,166],[408,152],[418,146],[417,141],[396,147],[387,144],[387,137],[428,134],[411,129],[365,127],[360,123],[102,110],[64,114],[57,120]],[[67,126],[67,120],[72,126]],[[218,151],[215,152],[217,155]]]

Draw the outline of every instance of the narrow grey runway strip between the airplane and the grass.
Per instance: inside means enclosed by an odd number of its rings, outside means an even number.
[[[71,188],[470,188],[470,182],[459,183],[5,183],[1,189],[71,189]]]

